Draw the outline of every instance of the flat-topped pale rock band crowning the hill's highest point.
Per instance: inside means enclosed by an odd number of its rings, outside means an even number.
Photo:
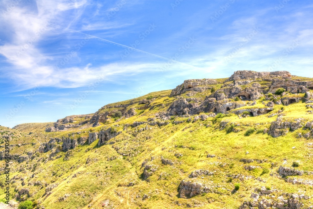
[[[264,77],[282,77],[285,79],[290,79],[291,74],[288,71],[274,71],[274,72],[255,72],[255,71],[236,71],[232,76],[230,76],[224,83],[228,81],[238,81],[246,79],[258,79]]]

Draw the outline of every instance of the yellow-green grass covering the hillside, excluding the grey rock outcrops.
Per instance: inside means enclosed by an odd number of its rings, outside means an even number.
[[[192,97],[209,97],[214,94],[211,89],[220,89],[224,80],[218,80],[218,84],[208,86],[206,91],[196,92]],[[264,82],[263,85],[269,84]],[[26,123],[14,129],[0,127],[1,134],[11,135],[10,144],[16,145],[10,154],[18,155],[10,165],[11,198],[36,201],[37,208],[46,209],[239,208],[245,201],[252,201],[251,194],[259,193],[262,187],[270,191],[270,195],[264,194],[259,201],[262,198],[278,201],[277,198],[286,193],[313,195],[313,184],[286,181],[291,177],[313,182],[310,173],[289,177],[278,173],[280,166],[313,171],[312,138],[299,137],[300,133],[310,132],[305,124],[313,121],[313,114],[308,112],[313,109],[306,107],[307,103],[278,104],[271,112],[256,117],[243,117],[229,111],[195,122],[198,115],[158,118],[175,100],[191,97],[187,96],[188,91],[175,97],[169,97],[170,93],[153,92],[106,105],[97,113],[120,110],[114,106],[133,102],[123,111],[135,108],[137,114],[120,119],[109,116],[97,127],[88,123],[59,132],[45,132],[53,123]],[[285,97],[291,96],[305,95],[287,94]],[[149,108],[141,109],[145,104],[139,101],[147,98],[151,98]],[[253,106],[249,106],[252,101],[238,102],[246,105],[238,109],[265,108],[263,98],[256,100]],[[269,117],[273,113],[276,115]],[[208,112],[199,113],[202,114],[212,116]],[[274,138],[267,129],[277,117],[283,121],[303,118],[302,128],[286,129],[285,135]],[[151,121],[168,124],[151,125]],[[134,122],[145,123],[133,127]],[[74,149],[56,151],[62,145],[62,142],[56,142],[53,149],[44,153],[38,151],[40,143],[46,143],[50,138],[88,138],[89,133],[108,128],[114,133],[121,131],[121,134],[106,144],[98,145],[98,140],[88,144],[87,139],[85,144]],[[3,149],[2,146],[1,151]],[[1,162],[4,164],[3,160]],[[199,169],[208,170],[210,174],[189,178]],[[4,178],[0,175],[0,182],[4,182]],[[182,180],[202,183],[207,186],[206,192],[182,198]],[[0,186],[4,188],[3,184]],[[4,189],[0,190],[1,196],[3,192]],[[299,202],[301,208],[308,208],[313,199],[302,198]],[[294,208],[290,202],[282,207]]]

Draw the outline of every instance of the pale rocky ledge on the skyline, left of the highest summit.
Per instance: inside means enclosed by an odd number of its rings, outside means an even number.
[[[214,79],[191,79],[184,81],[183,84],[177,86],[172,90],[170,96],[179,95],[185,93],[186,91],[197,91],[203,92],[210,87],[205,85],[214,85],[217,84],[217,81]]]

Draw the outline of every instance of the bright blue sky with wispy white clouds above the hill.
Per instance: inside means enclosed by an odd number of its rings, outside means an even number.
[[[3,0],[0,125],[237,70],[313,77],[311,1]]]

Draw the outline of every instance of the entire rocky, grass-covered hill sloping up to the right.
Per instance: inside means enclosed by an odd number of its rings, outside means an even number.
[[[313,206],[313,79],[287,71],[186,80],[0,131],[11,199],[37,208]]]

